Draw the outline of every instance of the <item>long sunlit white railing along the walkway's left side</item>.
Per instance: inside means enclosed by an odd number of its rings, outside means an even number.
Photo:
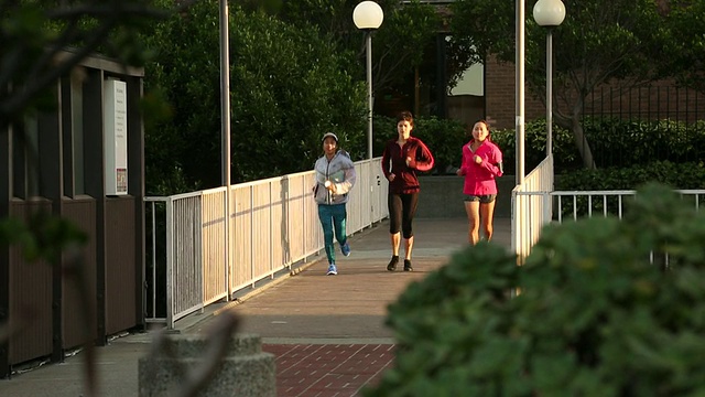
[[[381,159],[358,161],[355,169],[348,234],[389,215]],[[226,187],[145,197],[151,212],[147,321],[173,329],[178,319],[317,255],[323,232],[314,181],[314,171],[307,171],[230,186],[229,242]]]

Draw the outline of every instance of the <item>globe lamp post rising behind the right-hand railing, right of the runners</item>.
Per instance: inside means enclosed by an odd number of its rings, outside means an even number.
[[[539,0],[533,19],[546,31],[546,155],[553,152],[553,28],[563,23],[565,6],[561,0]]]

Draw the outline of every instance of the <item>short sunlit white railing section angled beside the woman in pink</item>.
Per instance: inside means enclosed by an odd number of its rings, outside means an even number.
[[[552,191],[553,154],[549,154],[511,192],[511,248],[520,262],[539,240],[543,225],[551,221]]]

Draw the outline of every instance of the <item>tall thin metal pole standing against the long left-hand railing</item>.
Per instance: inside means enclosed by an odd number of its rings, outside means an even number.
[[[223,185],[225,190],[225,278],[226,300],[230,300],[230,43],[228,0],[220,0],[220,131],[223,140]]]

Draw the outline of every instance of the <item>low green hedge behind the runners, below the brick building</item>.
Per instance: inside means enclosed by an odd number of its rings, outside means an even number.
[[[469,140],[463,125],[455,120],[419,117],[413,136],[421,138],[433,151],[436,168],[443,174],[459,167],[460,148]],[[397,137],[393,118],[377,116],[375,155],[381,155],[387,140]],[[524,171],[533,170],[546,150],[545,119],[527,122],[524,127]],[[583,169],[573,135],[553,128],[553,154],[561,190],[632,190],[649,182],[661,181],[677,189],[703,187],[705,159],[705,121],[684,124],[670,120],[633,121],[616,118],[586,119],[585,135],[598,164],[597,170]],[[516,173],[514,129],[492,130],[491,139],[505,157],[505,173]]]

